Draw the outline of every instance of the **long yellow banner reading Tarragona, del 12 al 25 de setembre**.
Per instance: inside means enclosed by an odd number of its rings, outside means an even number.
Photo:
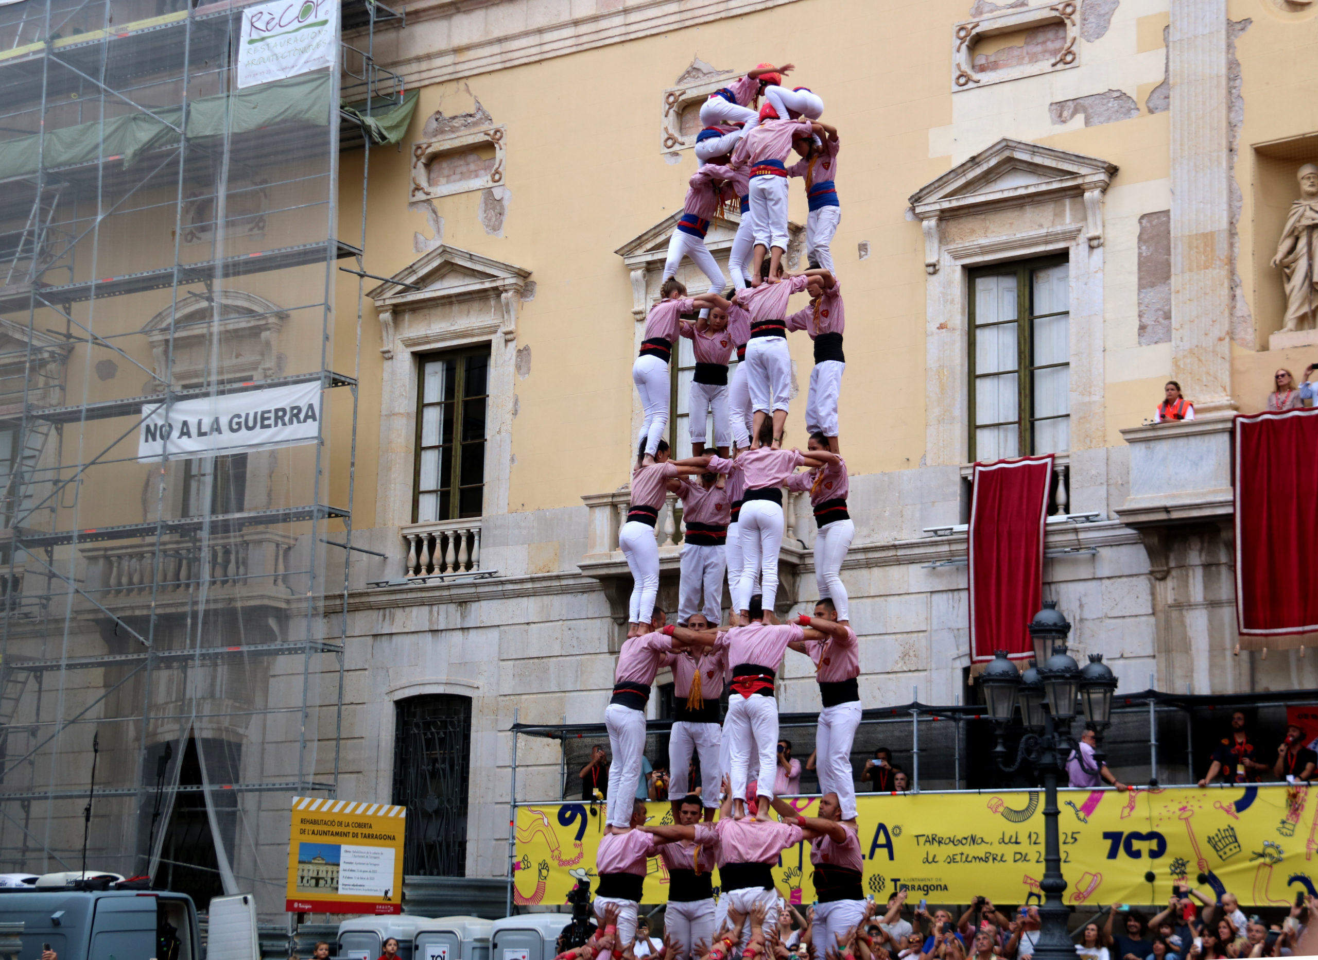
[[[1318,894],[1318,787],[1309,793],[1285,784],[1060,790],[1066,902],[1165,905],[1182,881],[1205,893],[1230,890],[1247,906]],[[807,816],[817,811],[817,798],[789,802]],[[648,807],[650,823],[673,822],[668,803]],[[905,888],[912,902],[1043,902],[1043,791],[862,794],[857,807],[865,890],[875,899]],[[564,903],[577,878],[593,882],[602,831],[602,805],[518,807],[515,902]],[[807,843],[783,851],[774,870],[792,903],[813,902],[811,874]],[[643,902],[667,898],[667,872],[651,859]]]

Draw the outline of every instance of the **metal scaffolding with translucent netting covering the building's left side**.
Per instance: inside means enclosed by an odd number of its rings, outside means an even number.
[[[336,793],[366,171],[407,97],[391,9],[306,3],[335,62],[246,87],[246,3],[0,7],[0,870],[274,917],[289,798]],[[298,442],[144,454],[299,386]]]

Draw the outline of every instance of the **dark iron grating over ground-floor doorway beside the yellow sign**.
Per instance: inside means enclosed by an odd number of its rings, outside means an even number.
[[[395,710],[393,802],[407,807],[403,873],[465,877],[472,701],[410,697]]]

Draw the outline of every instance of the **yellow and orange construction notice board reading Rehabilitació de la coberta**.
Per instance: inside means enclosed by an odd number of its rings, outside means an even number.
[[[294,797],[285,910],[401,914],[406,815],[387,803]]]

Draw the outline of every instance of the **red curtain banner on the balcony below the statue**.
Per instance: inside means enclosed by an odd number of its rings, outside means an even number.
[[[1318,631],[1318,410],[1236,417],[1235,525],[1240,633]]]

